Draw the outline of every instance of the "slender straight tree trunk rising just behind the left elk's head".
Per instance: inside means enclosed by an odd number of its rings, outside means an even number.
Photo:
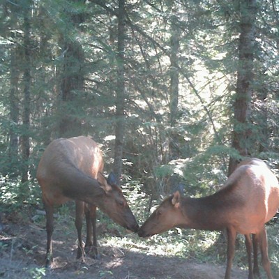
[[[125,133],[125,78],[124,78],[124,48],[125,48],[125,0],[119,0],[118,14],[118,45],[117,45],[117,89],[116,89],[116,125],[114,146],[114,174],[120,184],[122,174],[123,139]]]

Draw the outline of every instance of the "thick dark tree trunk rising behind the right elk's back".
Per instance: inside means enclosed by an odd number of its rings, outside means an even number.
[[[239,67],[236,82],[236,98],[234,102],[234,130],[232,132],[232,147],[241,156],[248,156],[250,143],[249,128],[250,100],[252,96],[252,68],[255,51],[255,0],[245,0],[241,5],[241,24],[239,37]],[[237,158],[229,159],[229,174],[236,165]]]

